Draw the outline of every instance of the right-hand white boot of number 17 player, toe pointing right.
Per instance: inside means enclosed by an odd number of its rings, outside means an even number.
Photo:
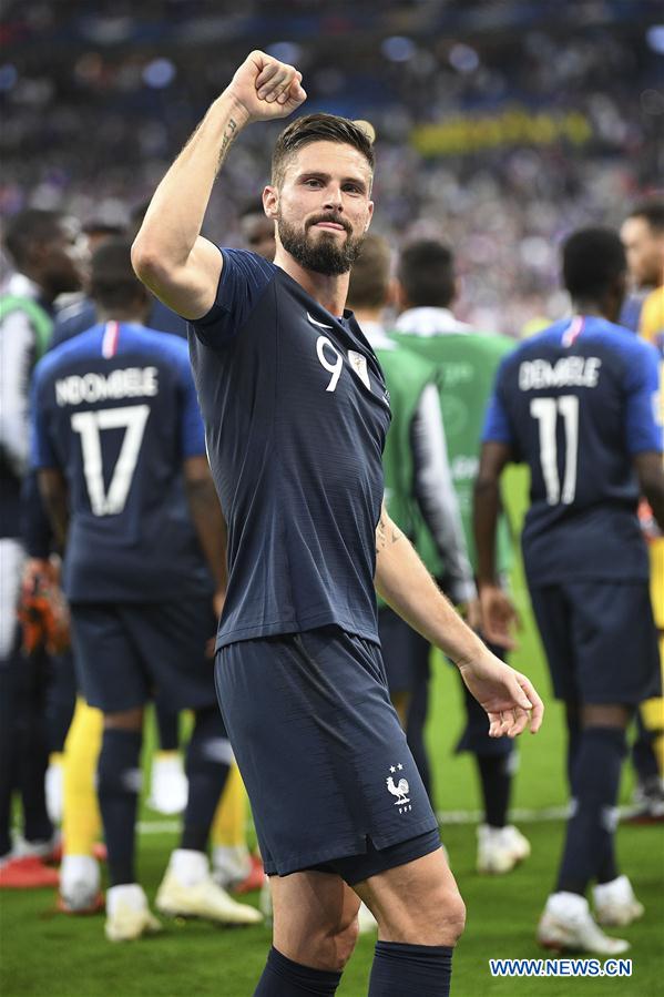
[[[261,924],[263,915],[239,904],[213,881],[207,856],[177,848],[157,891],[156,909],[171,917],[203,917],[218,924]]]

